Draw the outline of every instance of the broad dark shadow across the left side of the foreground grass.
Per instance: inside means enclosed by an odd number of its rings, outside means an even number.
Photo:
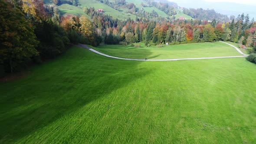
[[[74,48],[52,62],[37,66],[26,78],[0,84],[0,142],[17,142],[148,75],[150,71],[141,71],[140,63]]]

